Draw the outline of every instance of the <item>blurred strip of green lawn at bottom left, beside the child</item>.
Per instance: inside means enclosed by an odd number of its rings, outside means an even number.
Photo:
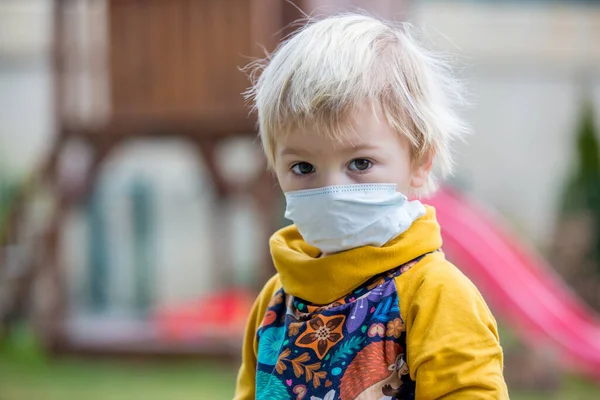
[[[64,360],[0,362],[2,400],[231,399],[234,373],[207,364],[164,365]]]

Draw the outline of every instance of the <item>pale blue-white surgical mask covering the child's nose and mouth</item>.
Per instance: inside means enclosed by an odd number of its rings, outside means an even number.
[[[426,212],[420,201],[396,192],[395,183],[327,186],[287,192],[285,198],[285,217],[304,241],[327,254],[381,247]]]

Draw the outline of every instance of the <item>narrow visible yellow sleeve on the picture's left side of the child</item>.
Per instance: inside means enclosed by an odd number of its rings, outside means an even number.
[[[281,288],[279,276],[273,276],[263,287],[262,291],[254,301],[246,333],[242,346],[242,365],[238,372],[235,396],[233,400],[254,400],[256,393],[256,355],[258,352],[258,341],[256,332],[262,324],[263,318],[269,307],[269,301]]]

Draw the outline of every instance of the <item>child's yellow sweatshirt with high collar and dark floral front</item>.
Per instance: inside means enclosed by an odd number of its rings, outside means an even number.
[[[508,399],[496,322],[433,208],[380,248],[319,258],[293,225],[270,245],[235,400]]]

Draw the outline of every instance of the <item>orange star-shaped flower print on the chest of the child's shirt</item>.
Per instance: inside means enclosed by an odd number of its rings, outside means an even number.
[[[343,315],[315,316],[308,321],[306,331],[298,337],[296,345],[313,349],[317,357],[322,360],[329,349],[344,337],[342,327],[345,320],[346,317]]]

